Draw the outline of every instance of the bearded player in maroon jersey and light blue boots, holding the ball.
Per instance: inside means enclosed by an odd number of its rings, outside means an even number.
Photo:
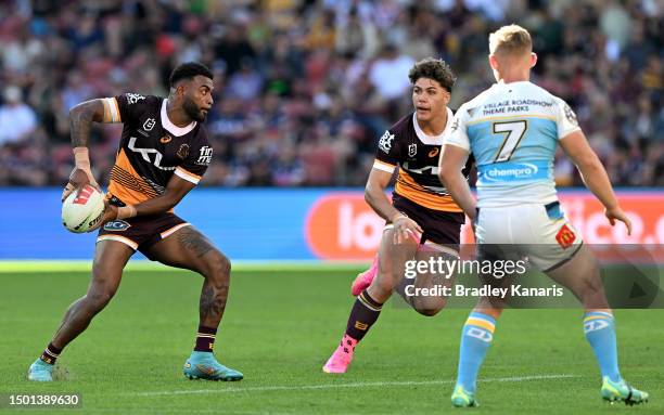
[[[168,99],[127,93],[87,101],[69,112],[76,167],[63,200],[85,183],[98,187],[87,146],[92,122],[123,122],[123,135],[111,170],[88,293],[69,306],[51,342],[30,366],[28,379],[52,380],[55,360],[111,301],[125,264],[137,250],[204,277],[199,332],[184,375],[190,379],[242,379],[240,372],[219,364],[213,354],[228,296],[230,262],[173,212],[212,161],[213,150],[202,122],[213,104],[213,88],[207,67],[186,63],[170,75]]]

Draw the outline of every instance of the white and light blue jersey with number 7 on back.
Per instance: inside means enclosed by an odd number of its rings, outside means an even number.
[[[557,200],[558,141],[578,130],[560,98],[528,81],[495,83],[463,104],[445,144],[468,150],[477,166],[477,206]]]

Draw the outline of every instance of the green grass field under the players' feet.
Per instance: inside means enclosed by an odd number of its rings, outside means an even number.
[[[42,265],[40,265],[43,268]],[[48,267],[47,267],[48,268]],[[82,410],[48,414],[432,414],[451,413],[460,328],[468,310],[434,317],[386,306],[349,372],[321,372],[346,324],[357,269],[233,272],[217,338],[240,382],[191,381],[181,367],[197,325],[201,278],[133,268],[112,303],[62,354],[66,379],[26,380],[85,271],[0,272],[0,394],[78,392]],[[53,270],[56,268],[53,267]],[[152,271],[151,271],[152,269]],[[27,270],[28,272],[21,272]],[[617,310],[623,375],[651,393],[643,406],[608,405],[584,339],[580,310],[508,310],[481,373],[473,414],[664,413],[664,310]],[[0,410],[0,413],[7,410]],[[18,413],[34,413],[20,410]]]

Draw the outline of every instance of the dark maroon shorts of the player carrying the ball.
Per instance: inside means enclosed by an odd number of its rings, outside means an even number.
[[[117,241],[143,254],[157,242],[190,223],[174,213],[138,216],[106,222],[99,231],[97,242]]]

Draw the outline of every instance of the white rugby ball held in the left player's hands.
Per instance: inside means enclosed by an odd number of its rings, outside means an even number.
[[[74,233],[88,232],[104,217],[104,195],[89,184],[62,203],[62,224]]]

